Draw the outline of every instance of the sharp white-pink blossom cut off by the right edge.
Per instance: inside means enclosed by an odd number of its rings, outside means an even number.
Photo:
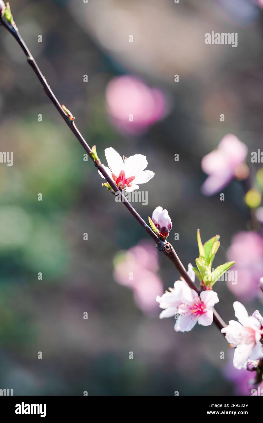
[[[249,316],[240,302],[233,304],[235,316],[239,321],[230,320],[229,325],[221,332],[225,333],[226,340],[236,347],[233,365],[237,369],[246,368],[248,360],[259,360],[263,357],[263,317],[258,310]]]

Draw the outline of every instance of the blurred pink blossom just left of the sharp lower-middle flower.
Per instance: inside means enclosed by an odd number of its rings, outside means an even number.
[[[148,241],[120,252],[114,259],[115,280],[133,290],[136,304],[147,315],[155,314],[156,296],[163,291],[158,269],[157,249]]]

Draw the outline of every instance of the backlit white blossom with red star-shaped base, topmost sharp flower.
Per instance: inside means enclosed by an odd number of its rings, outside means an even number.
[[[103,168],[117,187],[122,190],[129,192],[138,190],[138,184],[145,184],[155,176],[152,170],[144,170],[148,163],[142,154],[122,158],[114,148],[109,147],[105,150],[105,157],[108,167],[102,165]],[[102,173],[98,172],[104,178]]]

